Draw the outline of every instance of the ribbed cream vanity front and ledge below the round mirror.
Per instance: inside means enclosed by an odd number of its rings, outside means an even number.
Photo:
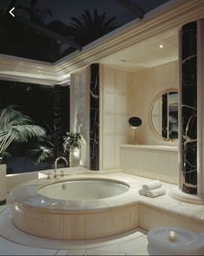
[[[120,146],[121,167],[124,173],[178,184],[178,148],[168,145]]]

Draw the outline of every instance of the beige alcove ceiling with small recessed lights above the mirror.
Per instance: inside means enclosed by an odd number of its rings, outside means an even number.
[[[160,45],[163,48],[160,48]],[[123,69],[134,72],[162,65],[178,59],[178,30],[169,30],[163,34],[119,50],[110,56],[105,56],[99,62],[112,69]]]

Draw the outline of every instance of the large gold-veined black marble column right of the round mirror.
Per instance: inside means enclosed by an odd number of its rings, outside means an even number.
[[[197,194],[197,23],[182,27],[182,192]]]

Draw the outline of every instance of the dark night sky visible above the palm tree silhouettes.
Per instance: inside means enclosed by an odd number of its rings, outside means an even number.
[[[136,3],[145,13],[156,6],[167,2],[168,0],[131,0],[132,3]],[[41,9],[49,9],[54,15],[54,19],[59,19],[64,23],[69,23],[71,16],[78,16],[84,12],[84,10],[98,9],[100,13],[106,12],[108,16],[117,16],[119,23],[127,23],[132,19],[135,19],[131,11],[125,10],[115,0],[38,0],[38,6]],[[10,1],[0,0],[0,8],[8,5]],[[17,0],[16,6],[22,4],[29,6],[29,0]],[[18,10],[15,10],[16,15]],[[49,21],[48,21],[49,22]]]

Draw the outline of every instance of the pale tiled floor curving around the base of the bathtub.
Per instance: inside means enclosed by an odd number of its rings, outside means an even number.
[[[10,204],[0,207],[0,255],[149,255],[141,229],[100,240],[48,240],[22,233],[12,224]]]

